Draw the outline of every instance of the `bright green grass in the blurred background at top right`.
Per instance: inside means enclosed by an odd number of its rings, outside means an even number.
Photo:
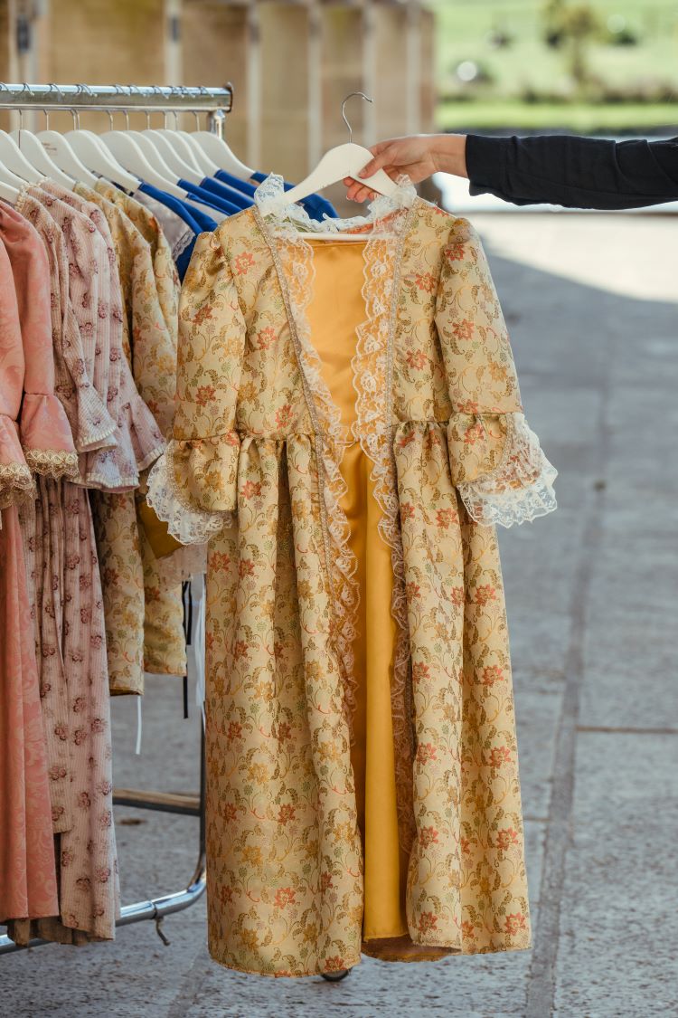
[[[580,0],[577,0],[580,2]],[[457,123],[478,127],[563,127],[580,132],[650,128],[678,122],[678,104],[628,103],[588,106],[520,102],[525,89],[559,92],[566,89],[565,54],[542,41],[541,0],[429,0],[437,15],[436,65],[442,96],[459,90],[454,68],[474,60],[492,75],[492,82],[478,90],[472,103],[442,101],[441,128]],[[620,47],[592,43],[589,66],[610,84],[663,81],[678,87],[678,0],[591,0],[601,20],[622,14],[638,32],[638,46]],[[511,46],[493,49],[487,34],[502,29],[513,37]]]

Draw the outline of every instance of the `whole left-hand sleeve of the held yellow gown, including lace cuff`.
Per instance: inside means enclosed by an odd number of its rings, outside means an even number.
[[[201,233],[179,300],[177,405],[148,504],[182,545],[202,544],[237,509],[236,403],[245,320],[219,237]]]

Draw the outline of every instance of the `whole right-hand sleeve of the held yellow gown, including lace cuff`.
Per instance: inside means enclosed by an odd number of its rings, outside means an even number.
[[[552,512],[557,471],[522,412],[487,258],[466,219],[454,220],[443,250],[435,323],[451,403],[450,473],[469,515],[512,526]]]

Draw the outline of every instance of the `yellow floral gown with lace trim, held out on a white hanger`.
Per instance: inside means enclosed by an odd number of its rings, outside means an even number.
[[[148,501],[209,540],[211,956],[301,976],[531,946],[495,524],[555,508],[471,224],[282,178],[198,238]]]

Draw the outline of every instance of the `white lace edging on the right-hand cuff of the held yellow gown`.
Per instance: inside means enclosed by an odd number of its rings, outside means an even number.
[[[509,415],[501,462],[474,482],[457,485],[467,512],[484,526],[529,522],[557,508],[553,482],[558,471],[544,455],[523,413]]]

